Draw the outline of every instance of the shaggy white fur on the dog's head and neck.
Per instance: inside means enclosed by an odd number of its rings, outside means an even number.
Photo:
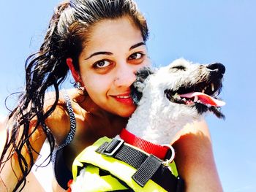
[[[214,88],[215,83],[214,91],[210,91],[211,95],[217,94],[223,70],[218,67],[224,66],[215,65],[208,67],[209,65],[192,64],[181,58],[150,74],[144,82],[135,82],[135,88],[142,91],[142,98],[129,119],[127,130],[159,145],[170,144],[181,128],[189,122],[200,120],[202,113],[207,110],[197,110],[196,104],[203,105],[200,100],[187,104],[170,101],[167,98],[167,90],[174,95],[184,87],[194,89],[191,91],[206,91],[209,86]],[[210,107],[209,104],[206,107]]]

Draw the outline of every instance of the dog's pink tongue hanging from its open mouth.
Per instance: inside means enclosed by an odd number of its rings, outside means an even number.
[[[210,104],[211,106],[215,106],[215,107],[222,107],[225,105],[224,101],[220,101],[218,99],[215,99],[201,92],[186,93],[186,94],[181,94],[179,96],[185,97],[185,98],[192,98],[197,96],[198,100],[200,100],[203,104]]]

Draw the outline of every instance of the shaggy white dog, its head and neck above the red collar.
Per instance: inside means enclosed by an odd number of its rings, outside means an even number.
[[[132,98],[138,107],[129,119],[127,131],[164,145],[170,144],[187,123],[200,120],[207,111],[224,118],[219,109],[225,102],[217,99],[224,73],[222,64],[191,64],[184,59],[155,72],[141,69],[132,88]],[[83,178],[79,177],[72,184],[72,189],[78,191],[83,188]]]

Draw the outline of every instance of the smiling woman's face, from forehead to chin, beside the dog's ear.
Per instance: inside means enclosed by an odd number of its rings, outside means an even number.
[[[86,91],[102,109],[129,117],[136,108],[130,97],[135,72],[150,64],[140,29],[127,17],[102,20],[87,39],[78,58]]]

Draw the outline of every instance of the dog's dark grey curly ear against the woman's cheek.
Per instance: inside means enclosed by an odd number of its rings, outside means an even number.
[[[142,97],[143,89],[145,88],[145,80],[150,75],[154,74],[154,70],[148,66],[143,67],[136,73],[136,80],[132,83],[131,95],[135,104],[138,104]]]

